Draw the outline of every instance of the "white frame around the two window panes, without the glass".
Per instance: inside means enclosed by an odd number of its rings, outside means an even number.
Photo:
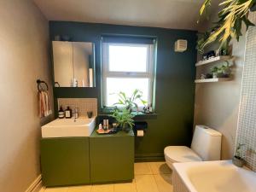
[[[148,49],[146,72],[119,72],[109,70],[109,46],[142,46]],[[113,108],[107,106],[107,78],[121,79],[148,79],[148,103],[153,103],[154,90],[154,44],[129,44],[129,43],[102,43],[102,106],[104,108]],[[142,110],[143,108],[139,108]]]

